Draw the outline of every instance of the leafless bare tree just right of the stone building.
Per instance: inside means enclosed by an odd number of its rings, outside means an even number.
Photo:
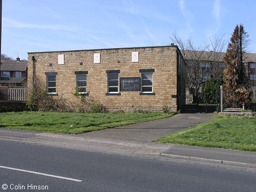
[[[223,35],[210,39],[210,44],[195,46],[191,39],[183,41],[175,32],[170,36],[177,44],[186,62],[186,84],[194,89],[194,102],[199,102],[200,90],[206,79],[220,76],[219,62],[223,61],[221,53],[225,46]]]

